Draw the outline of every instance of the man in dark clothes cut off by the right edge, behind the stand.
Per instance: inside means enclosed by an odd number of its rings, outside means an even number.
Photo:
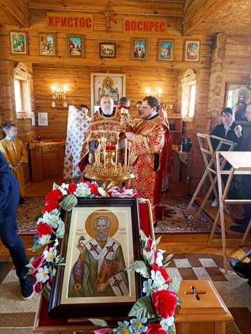
[[[251,125],[251,103],[248,104],[245,110],[245,117],[248,119]],[[238,137],[238,144],[240,145],[240,151],[251,152],[251,127],[245,129],[245,134],[241,134],[241,126],[237,125],[234,129],[236,136]],[[241,175],[241,198],[243,200],[251,200],[251,175]],[[243,204],[244,218],[235,218],[235,223],[240,226],[230,226],[234,232],[245,233],[248,223],[251,219],[251,204]]]

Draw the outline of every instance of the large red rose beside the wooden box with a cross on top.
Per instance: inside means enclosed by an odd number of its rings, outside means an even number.
[[[158,315],[167,319],[174,315],[177,305],[177,297],[173,290],[165,289],[153,292],[153,306]]]

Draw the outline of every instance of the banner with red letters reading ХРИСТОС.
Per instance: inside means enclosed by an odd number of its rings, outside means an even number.
[[[74,31],[93,31],[93,15],[47,13],[47,28]]]

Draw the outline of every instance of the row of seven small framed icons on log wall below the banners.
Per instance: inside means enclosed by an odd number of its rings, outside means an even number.
[[[148,54],[147,38],[133,38],[132,60],[146,61]],[[56,34],[38,33],[39,56],[56,56]],[[28,54],[27,33],[25,31],[10,31],[10,53]],[[199,61],[200,40],[184,41],[184,61]],[[84,35],[67,35],[67,56],[84,57]],[[100,58],[116,58],[116,43],[100,42]],[[158,40],[158,61],[174,61],[174,40]]]

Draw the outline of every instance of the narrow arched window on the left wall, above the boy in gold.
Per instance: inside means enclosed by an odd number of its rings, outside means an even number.
[[[17,118],[31,118],[30,75],[22,63],[14,69],[15,111]]]

